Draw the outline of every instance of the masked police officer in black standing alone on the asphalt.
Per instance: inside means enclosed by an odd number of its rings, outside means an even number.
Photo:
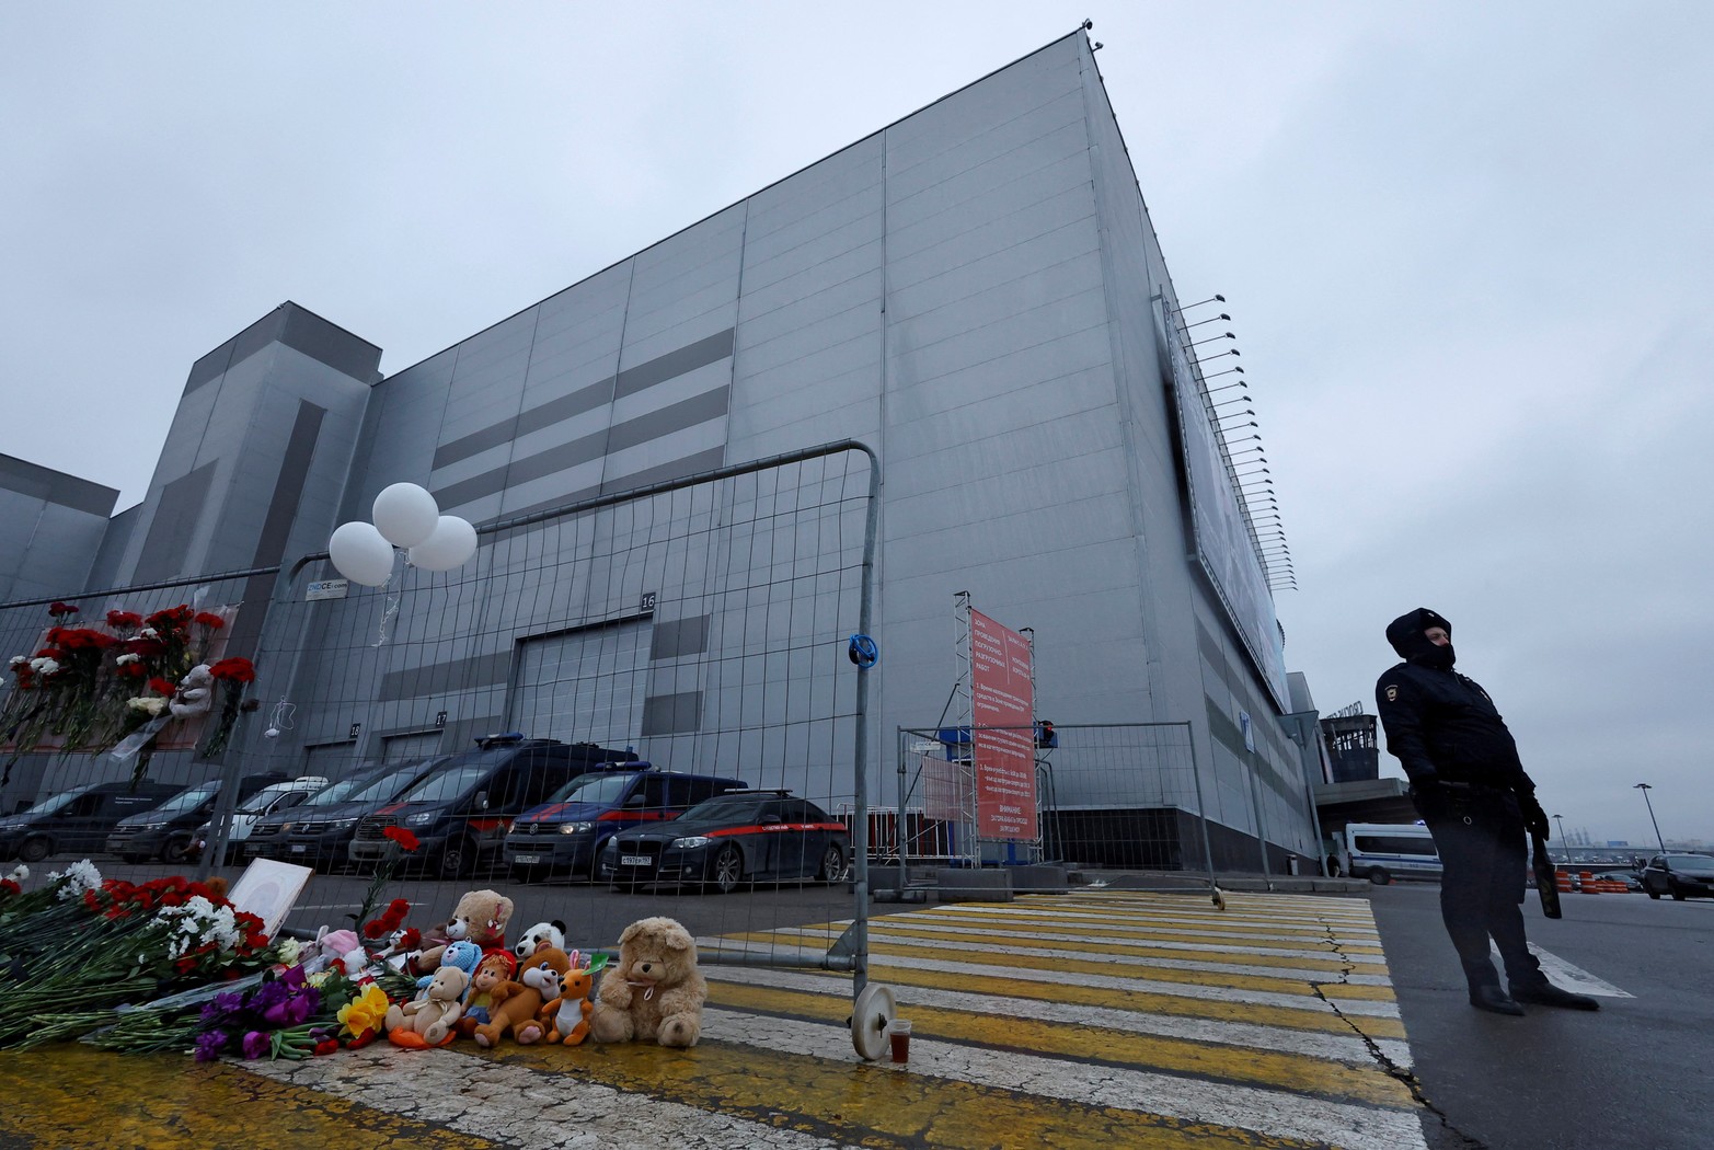
[[[1375,684],[1387,751],[1411,776],[1411,800],[1435,835],[1440,913],[1459,951],[1471,1006],[1522,1015],[1519,1003],[1599,1009],[1548,982],[1524,939],[1525,828],[1548,838],[1548,814],[1524,773],[1493,699],[1452,670],[1452,624],[1426,607],[1393,619],[1387,641],[1404,658]],[[1493,937],[1512,992],[1489,960]]]

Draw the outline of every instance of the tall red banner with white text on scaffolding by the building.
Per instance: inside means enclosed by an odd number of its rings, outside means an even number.
[[[1035,840],[1030,643],[975,610],[970,612],[970,704],[977,835]]]

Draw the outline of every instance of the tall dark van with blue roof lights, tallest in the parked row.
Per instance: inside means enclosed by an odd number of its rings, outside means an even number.
[[[417,836],[413,862],[442,879],[459,879],[497,862],[512,819],[603,763],[636,763],[636,751],[593,742],[487,735],[454,754],[394,802],[357,823],[351,862],[369,867],[399,855],[387,830]]]

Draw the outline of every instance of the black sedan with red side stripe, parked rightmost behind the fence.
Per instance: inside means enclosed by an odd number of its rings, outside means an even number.
[[[850,831],[816,804],[747,790],[699,802],[668,824],[614,835],[596,877],[620,889],[698,883],[727,895],[754,881],[840,883],[850,857]]]

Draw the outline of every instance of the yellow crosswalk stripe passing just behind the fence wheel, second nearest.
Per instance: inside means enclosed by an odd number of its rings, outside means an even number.
[[[710,1001],[735,1009],[845,1023],[850,999],[807,991],[776,991],[715,982]],[[1342,1102],[1411,1109],[1409,1088],[1378,1069],[1354,1068],[1308,1054],[1282,1054],[1207,1040],[1138,1035],[1106,1027],[1001,1018],[912,1004],[914,1033],[944,1042],[975,1042],[1049,1057],[1099,1059],[1140,1069],[1198,1075],[1250,1087],[1291,1090]]]

